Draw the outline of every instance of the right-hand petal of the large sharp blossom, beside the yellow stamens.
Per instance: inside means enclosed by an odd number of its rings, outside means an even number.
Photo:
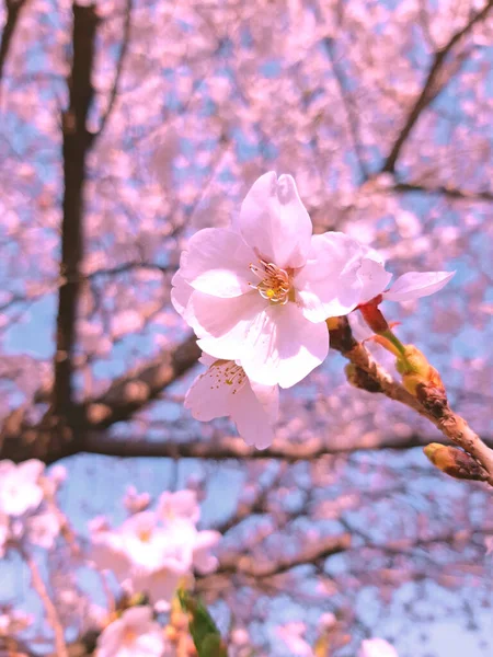
[[[362,247],[341,232],[311,239],[310,257],[295,277],[296,299],[310,322],[347,314],[360,298]]]

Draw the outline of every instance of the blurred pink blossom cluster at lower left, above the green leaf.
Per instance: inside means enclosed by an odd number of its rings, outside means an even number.
[[[217,560],[210,550],[217,531],[199,531],[199,507],[193,491],[162,493],[156,510],[139,510],[118,528],[104,517],[90,523],[91,560],[101,570],[111,570],[130,592],[144,592],[160,610],[170,602],[193,570],[213,572]]]

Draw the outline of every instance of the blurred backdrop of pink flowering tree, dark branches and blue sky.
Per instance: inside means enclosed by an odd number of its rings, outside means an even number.
[[[283,392],[272,453],[193,420],[170,281],[259,175],[293,174],[316,232],[394,275],[457,270],[386,316],[493,443],[493,2],[2,0],[0,24],[0,459],[62,463],[82,535],[123,519],[129,484],[195,487],[223,534],[197,588],[255,656],[314,655],[323,614],[337,657],[372,635],[491,655],[491,493],[434,470],[434,427],[349,388],[335,351]],[[99,585],[46,566],[76,636]],[[0,575],[0,602],[41,619],[20,563]]]

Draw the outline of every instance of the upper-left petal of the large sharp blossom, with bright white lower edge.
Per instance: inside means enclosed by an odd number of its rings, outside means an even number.
[[[181,276],[196,290],[215,297],[239,297],[251,290],[249,268],[255,254],[232,230],[205,228],[188,242]]]

